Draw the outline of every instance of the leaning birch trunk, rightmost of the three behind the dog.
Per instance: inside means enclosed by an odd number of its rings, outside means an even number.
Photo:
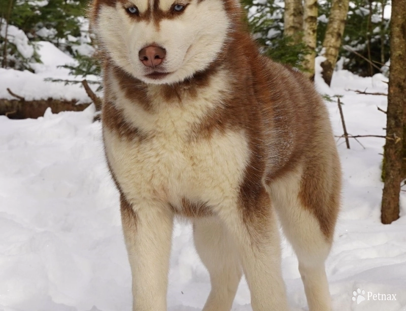
[[[339,49],[343,39],[346,25],[349,0],[333,0],[331,4],[330,16],[328,19],[326,35],[323,41],[326,60],[321,63],[323,68],[323,79],[330,85],[335,63],[339,56]]]

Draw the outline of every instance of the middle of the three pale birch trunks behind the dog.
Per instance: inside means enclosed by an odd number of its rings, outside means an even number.
[[[304,56],[303,68],[314,79],[314,59],[316,57],[317,0],[304,0],[303,6],[303,42],[310,54]]]

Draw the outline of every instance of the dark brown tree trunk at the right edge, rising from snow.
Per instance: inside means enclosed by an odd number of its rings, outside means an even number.
[[[406,106],[406,0],[392,1],[390,22],[390,71],[385,144],[385,185],[382,195],[383,224],[399,218],[402,168],[403,119]]]

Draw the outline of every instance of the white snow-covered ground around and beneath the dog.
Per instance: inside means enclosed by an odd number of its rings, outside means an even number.
[[[4,73],[8,74],[1,71],[2,79]],[[347,129],[353,135],[385,134],[385,114],[377,106],[385,110],[386,97],[348,90],[387,92],[382,80],[387,81],[382,75],[360,78],[339,71],[328,88],[316,77],[322,93],[344,95]],[[24,89],[35,85],[29,85],[28,78],[24,81],[26,87],[15,88],[15,92],[28,96]],[[0,92],[5,94],[3,89]],[[341,135],[337,104],[327,105],[334,133]],[[39,119],[0,116],[0,310],[131,309],[118,194],[104,160],[100,123],[92,122],[93,113],[90,106],[83,112],[47,111]],[[337,143],[344,190],[327,261],[333,309],[404,311],[406,214],[402,209],[398,221],[385,226],[380,223],[384,140],[360,141],[364,148],[351,139],[350,150],[343,139]],[[404,194],[401,204],[406,206]],[[173,236],[168,309],[200,310],[209,294],[209,275],[195,253],[190,226],[177,224]],[[297,260],[285,240],[283,274],[291,309],[308,310]],[[352,299],[357,289],[359,304]],[[396,300],[374,300],[374,294],[376,298],[393,294]],[[251,310],[249,302],[243,280],[233,310]]]

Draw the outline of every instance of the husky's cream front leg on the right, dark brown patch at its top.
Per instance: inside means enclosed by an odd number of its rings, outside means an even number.
[[[262,188],[219,213],[239,248],[253,311],[287,311],[275,211]]]

